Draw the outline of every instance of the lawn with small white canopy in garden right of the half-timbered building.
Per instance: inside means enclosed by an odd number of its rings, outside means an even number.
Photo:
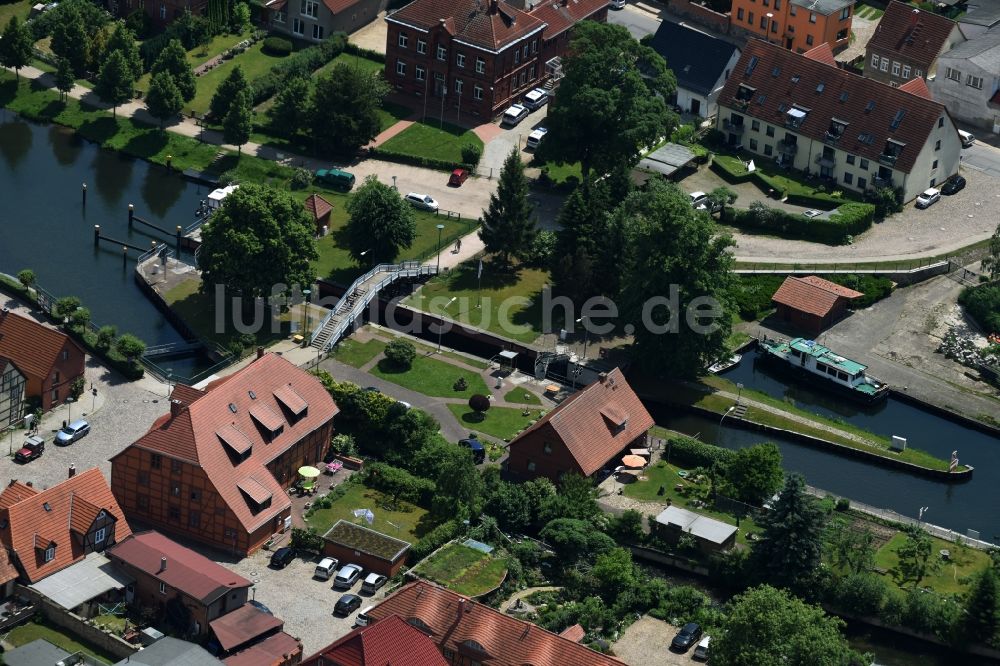
[[[306,517],[306,522],[320,534],[325,534],[334,523],[343,519],[410,543],[416,543],[420,537],[434,529],[435,525],[426,509],[402,501],[396,507],[388,509],[386,505],[389,499],[377,490],[352,483],[344,496],[329,509],[317,509]],[[368,525],[364,518],[355,518],[355,509],[371,509],[375,520]]]

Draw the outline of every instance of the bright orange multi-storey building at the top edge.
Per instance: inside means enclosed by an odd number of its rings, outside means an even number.
[[[733,0],[732,25],[796,53],[847,48],[854,0]]]

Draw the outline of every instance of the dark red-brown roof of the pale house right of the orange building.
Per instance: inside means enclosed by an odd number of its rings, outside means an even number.
[[[927,72],[957,24],[949,18],[893,0],[868,41],[867,54],[897,53]]]

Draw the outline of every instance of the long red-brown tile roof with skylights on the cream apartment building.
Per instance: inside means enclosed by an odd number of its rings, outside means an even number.
[[[751,89],[745,108],[737,101],[741,84]],[[878,161],[886,141],[892,139],[905,144],[894,166],[905,173],[913,169],[938,118],[947,113],[932,100],[759,39],[747,43],[719,94],[719,104],[779,126],[792,105],[808,109],[794,131],[816,141],[826,138],[830,120],[836,118],[847,123],[838,149]],[[722,113],[720,118],[728,115]]]

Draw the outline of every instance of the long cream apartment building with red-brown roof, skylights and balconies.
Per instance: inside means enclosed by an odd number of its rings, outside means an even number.
[[[958,171],[961,140],[923,79],[899,88],[837,67],[826,45],[799,55],[747,43],[719,94],[726,142],[863,193],[902,188],[914,199]]]

